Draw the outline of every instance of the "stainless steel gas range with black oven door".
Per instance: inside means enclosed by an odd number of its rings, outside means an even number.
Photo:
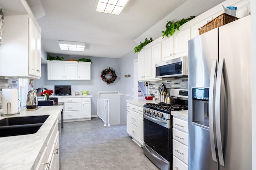
[[[176,91],[174,93],[173,91]],[[188,90],[171,89],[178,94],[174,104],[147,103],[143,109],[144,154],[161,170],[172,165],[172,111],[187,110]]]

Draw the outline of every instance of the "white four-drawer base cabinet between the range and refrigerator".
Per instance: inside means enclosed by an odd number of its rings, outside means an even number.
[[[172,119],[172,169],[188,170],[188,121]]]

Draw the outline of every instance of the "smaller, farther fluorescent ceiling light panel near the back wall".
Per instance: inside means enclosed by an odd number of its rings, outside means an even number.
[[[84,51],[85,43],[75,41],[59,41],[61,50]]]

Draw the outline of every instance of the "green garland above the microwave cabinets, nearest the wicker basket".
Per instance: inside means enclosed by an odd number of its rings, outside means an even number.
[[[169,35],[173,35],[175,32],[175,29],[177,29],[178,31],[180,31],[180,26],[183,25],[184,23],[188,22],[189,20],[192,20],[193,18],[195,18],[196,16],[190,16],[190,18],[187,19],[182,19],[180,21],[177,22],[172,22],[172,21],[167,21],[165,28],[165,31],[161,31],[161,33],[163,33],[163,38],[164,37],[169,37]]]

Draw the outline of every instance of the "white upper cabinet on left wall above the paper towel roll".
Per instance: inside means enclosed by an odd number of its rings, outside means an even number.
[[[40,78],[40,29],[27,14],[4,16],[0,76]]]

